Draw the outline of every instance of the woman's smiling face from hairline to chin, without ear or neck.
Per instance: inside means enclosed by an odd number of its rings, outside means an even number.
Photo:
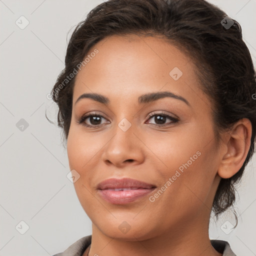
[[[206,223],[220,157],[192,62],[160,38],[136,35],[110,36],[88,54],[75,80],[67,154],[95,230],[134,240]],[[84,93],[107,99],[77,101]],[[118,180],[99,185],[109,178]]]

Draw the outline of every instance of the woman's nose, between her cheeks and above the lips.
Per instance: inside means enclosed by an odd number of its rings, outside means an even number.
[[[126,131],[116,126],[101,156],[105,164],[122,167],[144,161],[143,143],[134,131],[132,125]]]

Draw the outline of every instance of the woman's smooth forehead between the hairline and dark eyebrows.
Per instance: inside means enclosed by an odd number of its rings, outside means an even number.
[[[162,89],[191,94],[191,87],[199,88],[190,58],[159,36],[109,36],[86,56],[75,78],[73,101],[84,92],[128,99]]]

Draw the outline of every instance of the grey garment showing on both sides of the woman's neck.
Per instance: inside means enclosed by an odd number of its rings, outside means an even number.
[[[236,256],[230,248],[230,245],[227,241],[223,240],[210,240],[211,245],[214,249],[220,253],[223,253],[222,256]],[[73,244],[71,244],[63,252],[54,254],[52,256],[82,256],[85,249],[91,243],[91,235],[83,236]]]

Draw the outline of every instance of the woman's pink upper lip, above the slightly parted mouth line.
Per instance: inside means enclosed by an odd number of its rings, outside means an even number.
[[[107,188],[154,188],[156,187],[153,184],[145,183],[140,180],[132,178],[108,178],[98,183],[97,189],[103,190]]]

